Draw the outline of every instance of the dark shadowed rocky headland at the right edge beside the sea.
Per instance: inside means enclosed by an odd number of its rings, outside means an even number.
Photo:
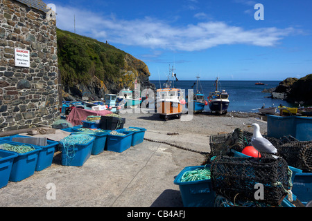
[[[285,99],[287,102],[312,104],[312,74],[300,79],[287,78],[279,83],[271,93],[272,98]]]

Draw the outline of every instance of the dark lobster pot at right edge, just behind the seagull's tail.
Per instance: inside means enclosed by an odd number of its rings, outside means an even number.
[[[277,147],[286,162],[304,172],[312,172],[312,141],[290,142]]]

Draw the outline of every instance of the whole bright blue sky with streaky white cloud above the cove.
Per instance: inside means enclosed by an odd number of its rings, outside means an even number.
[[[146,63],[150,80],[284,80],[312,73],[311,0],[44,0],[57,26]],[[263,5],[263,20],[254,19]]]

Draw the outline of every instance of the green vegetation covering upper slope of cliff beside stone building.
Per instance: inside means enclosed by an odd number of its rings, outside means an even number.
[[[58,63],[62,83],[73,86],[96,76],[117,82],[125,66],[125,52],[89,37],[57,29]]]

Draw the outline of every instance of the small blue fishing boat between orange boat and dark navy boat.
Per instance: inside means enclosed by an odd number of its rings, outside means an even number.
[[[208,102],[205,100],[205,95],[201,93],[202,91],[202,86],[199,81],[199,76],[196,77],[197,82],[196,82],[196,93],[193,95],[193,99],[189,99],[188,101],[188,108],[189,111],[191,111],[193,108],[193,113],[200,113],[204,111],[205,106],[208,104]]]

